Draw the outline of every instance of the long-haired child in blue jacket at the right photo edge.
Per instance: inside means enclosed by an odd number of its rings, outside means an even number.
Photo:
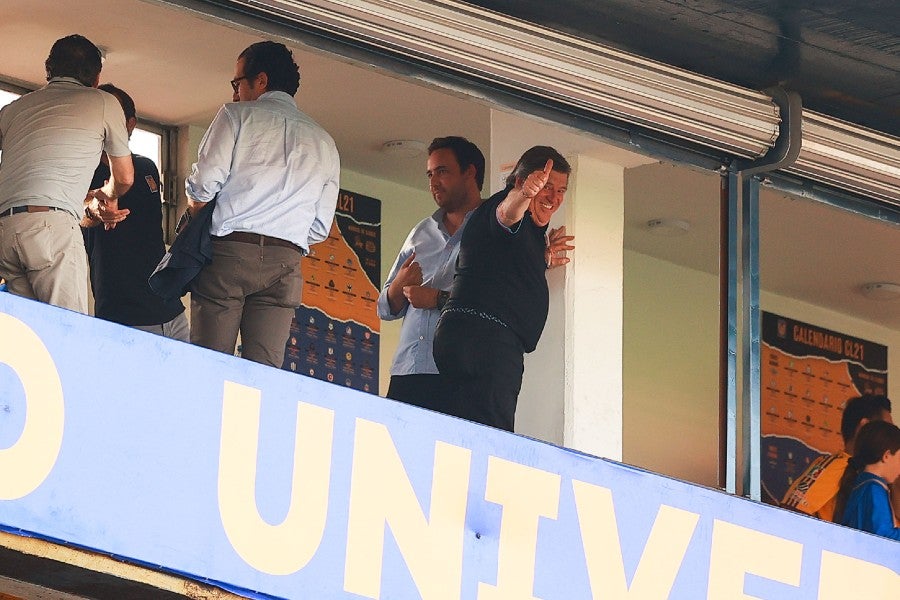
[[[900,428],[871,421],[856,437],[853,457],[841,478],[835,521],[900,541],[891,509],[890,486],[900,477]]]

